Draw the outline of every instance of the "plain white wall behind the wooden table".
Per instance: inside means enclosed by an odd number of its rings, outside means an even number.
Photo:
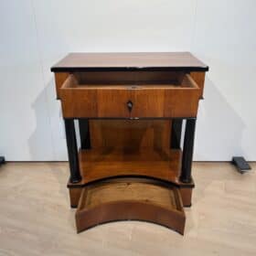
[[[210,67],[195,160],[256,160],[253,0],[1,0],[0,155],[65,160],[52,64],[70,51],[188,50]]]

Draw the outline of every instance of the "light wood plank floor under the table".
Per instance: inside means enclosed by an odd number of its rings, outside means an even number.
[[[79,235],[67,163],[0,167],[0,255],[256,255],[256,164],[196,163],[185,236],[150,223],[105,224]]]

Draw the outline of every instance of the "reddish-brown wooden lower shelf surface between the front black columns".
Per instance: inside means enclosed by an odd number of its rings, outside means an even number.
[[[80,187],[113,176],[148,176],[179,185],[181,157],[181,150],[80,150],[82,180],[69,184],[69,187]]]

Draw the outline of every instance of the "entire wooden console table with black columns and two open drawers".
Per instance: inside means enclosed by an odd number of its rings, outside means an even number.
[[[51,70],[65,122],[78,232],[137,219],[183,234],[208,67],[188,52],[71,53]]]

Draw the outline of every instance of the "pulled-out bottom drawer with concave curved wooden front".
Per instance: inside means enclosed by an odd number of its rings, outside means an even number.
[[[116,179],[82,189],[76,213],[78,232],[116,220],[144,220],[184,233],[185,213],[176,187],[143,179]]]

